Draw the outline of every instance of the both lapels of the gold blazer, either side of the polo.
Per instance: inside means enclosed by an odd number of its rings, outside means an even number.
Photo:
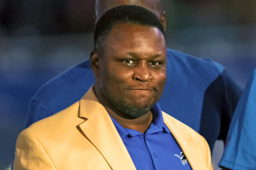
[[[85,119],[78,125],[83,135],[99,150],[113,170],[136,170],[114,123],[104,106],[98,101],[92,87],[80,100],[78,117]],[[174,121],[173,117],[164,112],[163,118],[191,168],[193,170],[205,169],[207,167],[205,155],[198,154],[198,149],[201,149],[202,146],[190,135],[187,128],[182,128],[186,125],[177,123],[178,121]]]

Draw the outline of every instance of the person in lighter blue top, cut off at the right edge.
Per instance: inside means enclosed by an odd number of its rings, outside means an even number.
[[[256,169],[256,70],[248,81],[232,118],[219,165],[232,170]]]

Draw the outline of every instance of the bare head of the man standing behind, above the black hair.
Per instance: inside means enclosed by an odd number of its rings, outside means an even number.
[[[150,10],[161,21],[164,29],[166,27],[165,11],[161,9],[160,0],[96,0],[95,1],[95,23],[110,8],[122,5],[142,6]]]

